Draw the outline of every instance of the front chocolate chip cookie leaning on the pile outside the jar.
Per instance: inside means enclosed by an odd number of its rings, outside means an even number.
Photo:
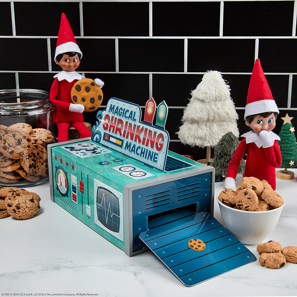
[[[30,219],[40,210],[36,195],[25,190],[9,193],[5,198],[7,212],[16,219]]]

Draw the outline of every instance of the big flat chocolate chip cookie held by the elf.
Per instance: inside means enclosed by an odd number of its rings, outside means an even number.
[[[90,78],[80,79],[72,87],[72,102],[82,104],[86,108],[85,111],[96,110],[101,105],[102,99],[101,88]]]

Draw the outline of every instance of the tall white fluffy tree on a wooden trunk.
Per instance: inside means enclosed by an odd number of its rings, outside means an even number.
[[[210,148],[215,146],[227,132],[239,136],[230,87],[218,71],[208,71],[191,93],[177,132],[182,143],[190,146],[208,147],[206,162],[210,161]]]

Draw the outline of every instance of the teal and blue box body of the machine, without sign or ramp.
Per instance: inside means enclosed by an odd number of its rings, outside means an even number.
[[[48,146],[51,200],[129,256],[139,234],[214,207],[214,168],[168,151],[165,171],[91,139]],[[132,207],[133,206],[133,207]]]

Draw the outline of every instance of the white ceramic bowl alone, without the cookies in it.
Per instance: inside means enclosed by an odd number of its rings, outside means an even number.
[[[285,201],[282,206],[268,211],[243,211],[223,204],[217,195],[225,227],[243,244],[259,244],[265,242],[274,230]]]

